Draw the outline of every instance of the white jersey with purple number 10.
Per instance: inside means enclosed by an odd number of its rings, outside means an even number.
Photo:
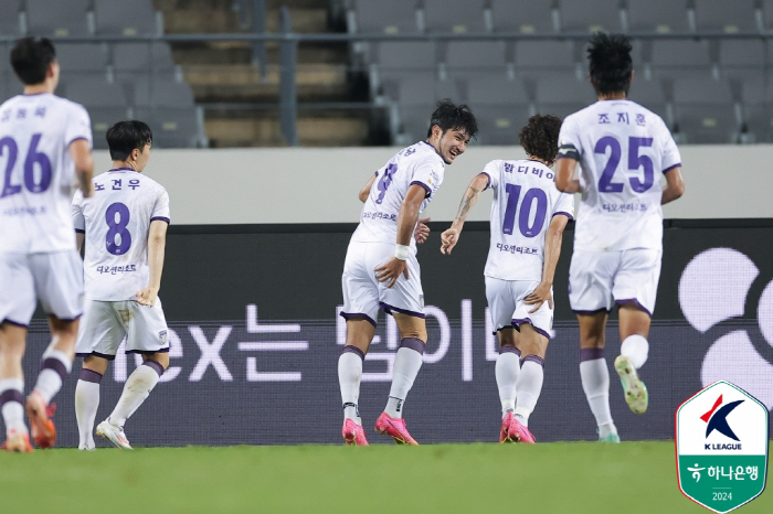
[[[574,216],[574,197],[555,188],[553,170],[534,160],[491,161],[491,243],[484,275],[500,280],[542,280],[544,235],[553,216]]]

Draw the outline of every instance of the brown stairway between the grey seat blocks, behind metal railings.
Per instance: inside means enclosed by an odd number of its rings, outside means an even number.
[[[167,34],[244,33],[232,0],[153,0],[163,12]],[[293,30],[298,33],[332,32],[326,0],[267,0],[266,31],[278,32],[279,8],[287,4]],[[342,30],[342,28],[340,29]],[[205,131],[213,148],[280,147],[279,49],[267,43],[267,73],[262,81],[252,64],[248,42],[172,43],[172,55],[182,66],[198,104],[275,104],[272,109],[207,109]],[[349,73],[346,43],[300,44],[296,84],[298,103],[363,101],[364,75]],[[341,147],[384,143],[370,130],[366,109],[300,109],[298,139],[306,147]]]

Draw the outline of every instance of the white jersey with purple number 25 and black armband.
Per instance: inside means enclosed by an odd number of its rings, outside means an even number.
[[[559,158],[572,154],[583,189],[574,249],[661,248],[660,180],[681,165],[663,119],[631,100],[596,101],[563,120]]]

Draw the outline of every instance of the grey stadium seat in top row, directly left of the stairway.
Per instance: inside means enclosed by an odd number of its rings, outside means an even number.
[[[94,0],[97,34],[152,35],[156,14],[150,0]]]

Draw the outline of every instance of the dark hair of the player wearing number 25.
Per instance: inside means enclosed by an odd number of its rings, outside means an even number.
[[[587,60],[596,94],[628,94],[631,72],[634,69],[631,49],[631,41],[623,34],[596,32],[591,36]]]

